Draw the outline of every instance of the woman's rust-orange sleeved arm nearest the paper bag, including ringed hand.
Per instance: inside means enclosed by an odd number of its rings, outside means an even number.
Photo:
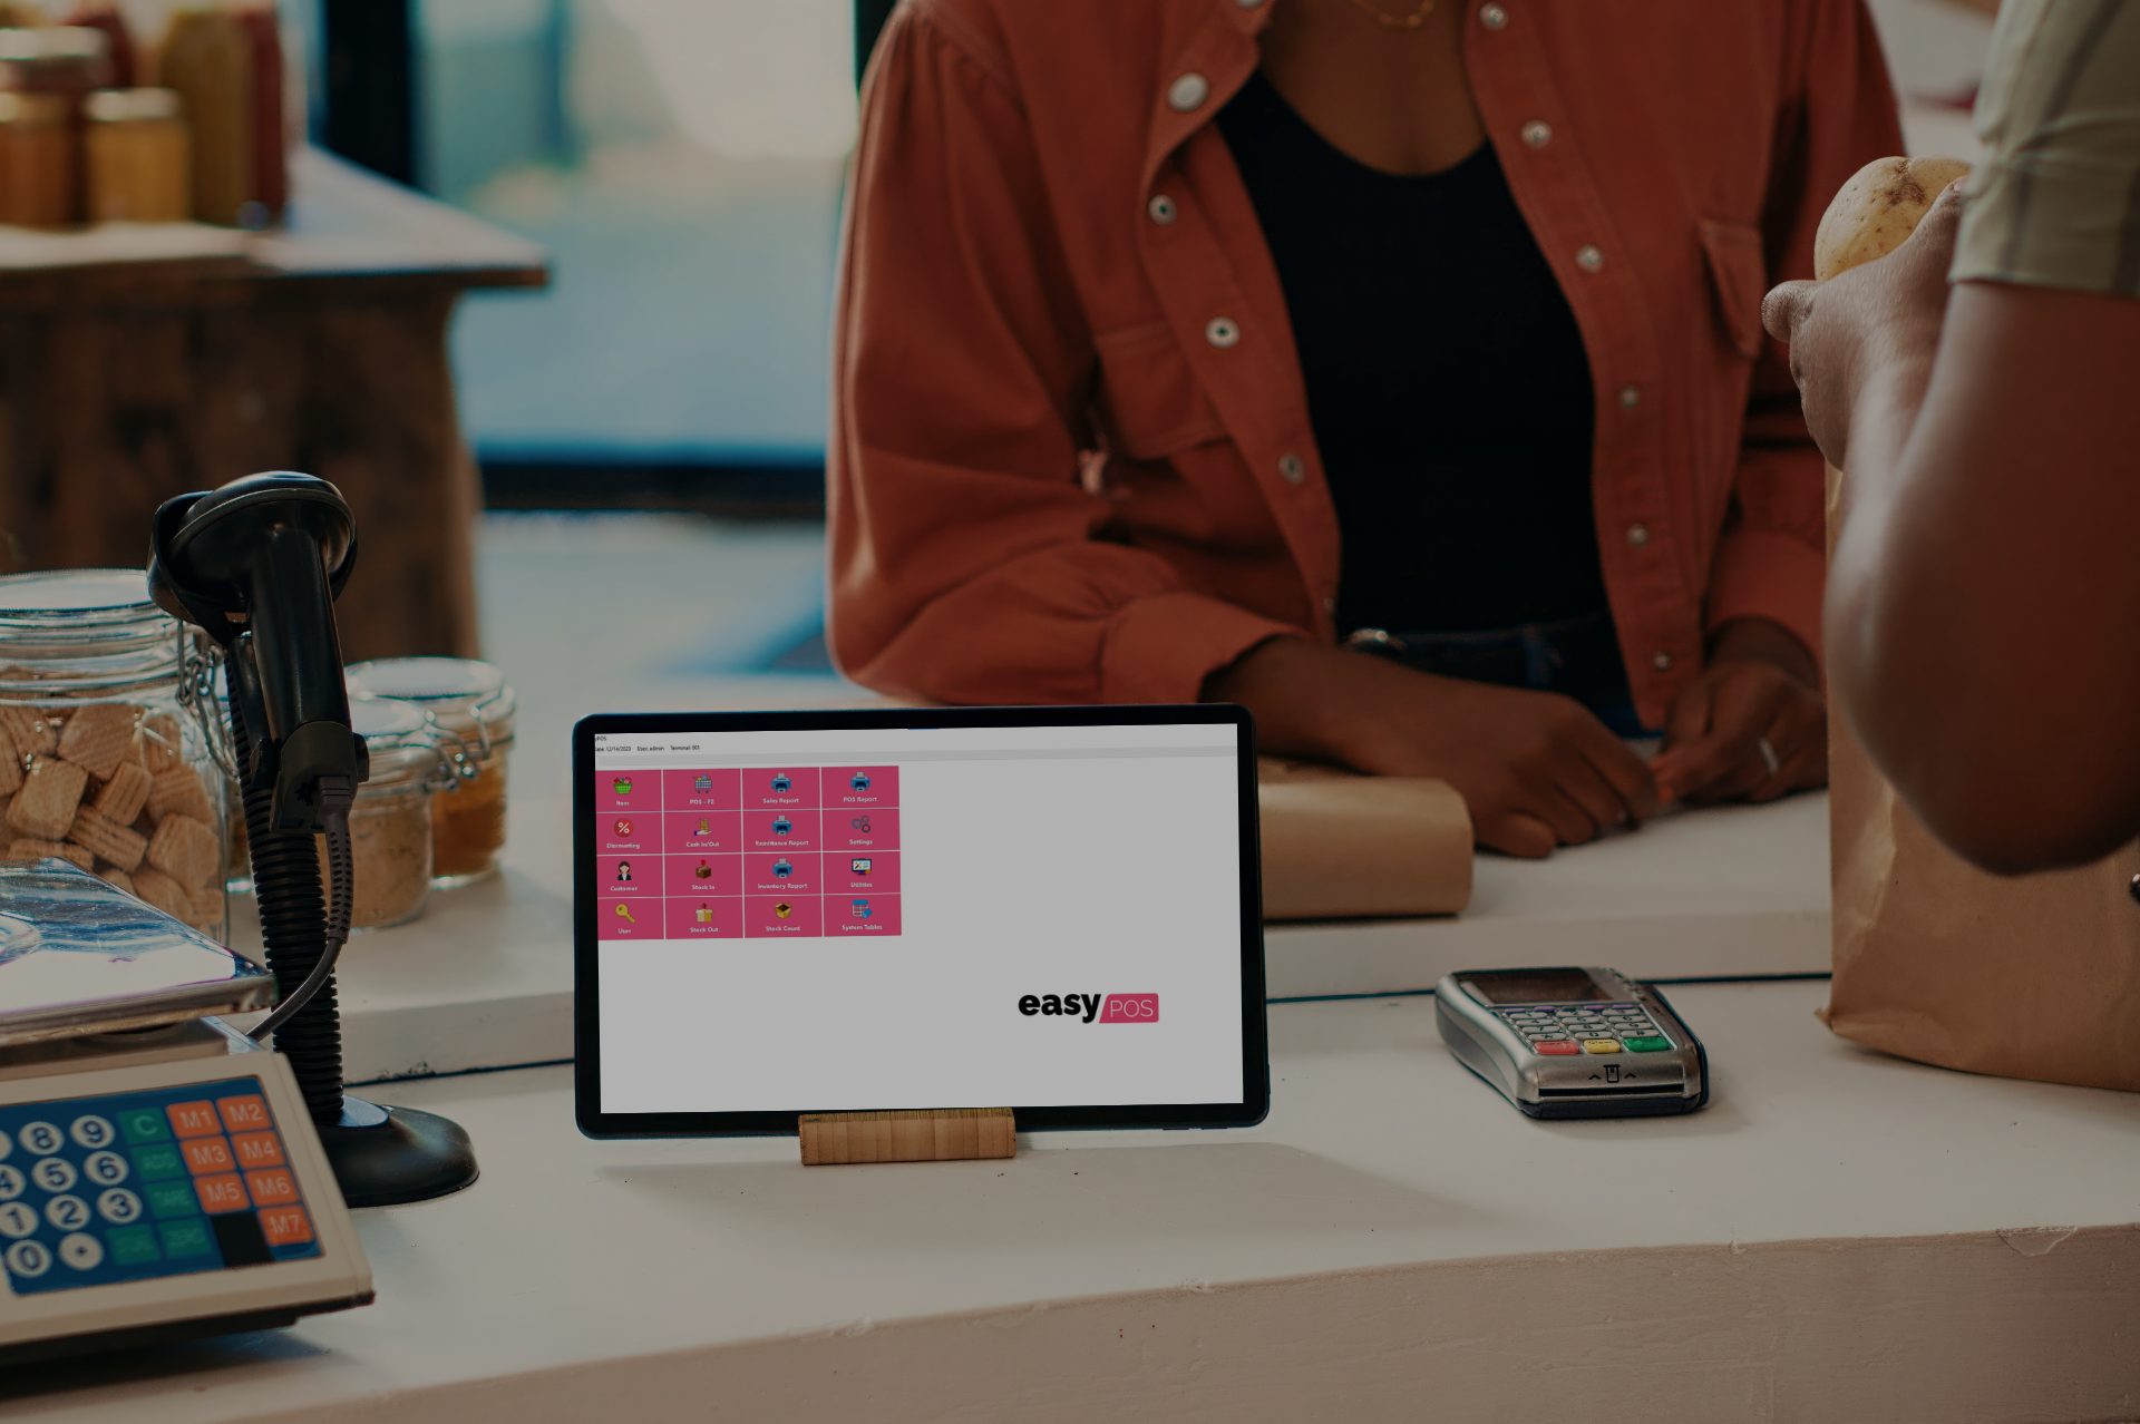
[[[1748,261],[1766,261],[1770,278],[1813,272],[1813,233],[1828,199],[1862,165],[1902,145],[1887,62],[1864,4],[1800,0],[1787,15],[1785,141],[1759,250],[1746,252]],[[1819,663],[1823,487],[1821,453],[1806,434],[1785,351],[1761,342],[1703,601],[1710,661],[1669,708],[1656,763],[1686,800],[1770,800],[1828,780]],[[1763,738],[1778,757],[1774,770],[1761,757]]]

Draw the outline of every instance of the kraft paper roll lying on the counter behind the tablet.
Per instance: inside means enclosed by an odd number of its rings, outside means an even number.
[[[1455,915],[1470,904],[1472,827],[1442,780],[1265,761],[1263,917]]]

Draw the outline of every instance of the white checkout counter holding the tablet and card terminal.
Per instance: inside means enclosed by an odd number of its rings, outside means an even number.
[[[1714,1101],[1534,1123],[1442,1048],[1455,966],[1828,960],[1819,798],[1483,862],[1464,919],[1271,932],[1273,1112],[802,1170],[792,1137],[582,1140],[569,847],[345,960],[351,1078],[482,1180],[357,1214],[377,1304],[0,1377],[0,1420],[2140,1418],[2140,1095],[1834,1039],[1825,984],[1695,984]],[[548,802],[548,804],[546,804]],[[507,1071],[490,1071],[507,1069]]]

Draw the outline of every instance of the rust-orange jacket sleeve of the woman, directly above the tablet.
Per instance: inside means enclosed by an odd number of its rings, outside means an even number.
[[[1010,79],[912,6],[865,96],[830,449],[830,644],[933,701],[1194,701],[1293,633],[1102,539],[1091,334]]]

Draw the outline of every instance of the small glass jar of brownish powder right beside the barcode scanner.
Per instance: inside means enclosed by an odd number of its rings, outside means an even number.
[[[349,808],[353,907],[349,924],[372,930],[407,924],[430,896],[432,791],[458,787],[454,763],[422,708],[389,697],[353,697],[349,725],[370,753],[370,776]],[[327,874],[321,845],[321,877]]]

